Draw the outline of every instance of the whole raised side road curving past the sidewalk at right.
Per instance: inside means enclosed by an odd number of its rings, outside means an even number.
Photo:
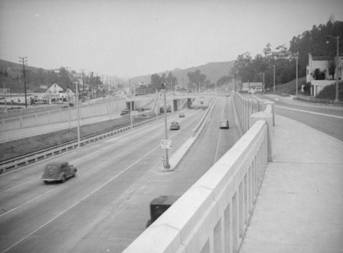
[[[343,141],[343,107],[296,101],[292,96],[258,95],[275,103],[275,113],[302,122]]]

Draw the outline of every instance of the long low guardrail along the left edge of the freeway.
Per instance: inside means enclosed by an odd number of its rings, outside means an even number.
[[[144,120],[144,121],[138,122],[136,124],[132,124],[132,128],[139,127],[143,124],[148,124],[154,120],[156,120],[155,117],[153,117],[149,120]],[[95,135],[91,135],[88,137],[84,137],[80,140],[80,146],[85,146],[86,144],[91,144],[92,142],[96,142],[96,141],[104,139],[106,137],[110,137],[110,136],[116,135],[118,133],[128,131],[129,129],[131,129],[130,125],[128,125],[126,127],[120,127],[119,129],[115,129],[115,130],[106,131],[106,132],[103,132],[100,134],[95,134]],[[56,155],[60,155],[60,154],[62,154],[62,152],[67,152],[67,151],[73,150],[75,148],[78,148],[78,140],[68,142],[67,144],[60,144],[58,146],[54,146],[52,148],[47,148],[45,150],[39,150],[36,152],[32,152],[28,155],[23,155],[20,157],[8,159],[8,160],[0,163],[0,174],[5,173],[7,170],[15,170],[15,169],[21,168],[25,165],[36,163],[37,161],[41,161],[41,160],[47,159],[49,157],[54,157]]]

